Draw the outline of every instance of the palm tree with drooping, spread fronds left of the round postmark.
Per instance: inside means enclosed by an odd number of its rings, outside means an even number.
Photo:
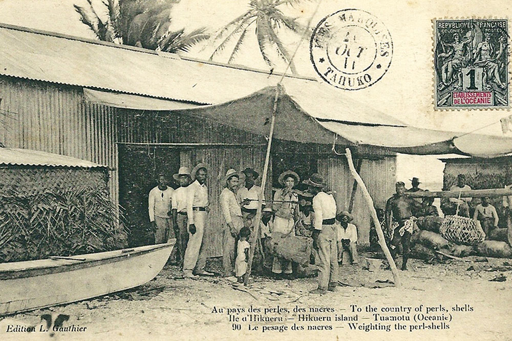
[[[250,0],[249,9],[220,29],[213,38],[213,42],[218,42],[221,39],[222,42],[211,54],[210,61],[219,52],[224,50],[228,42],[238,37],[237,43],[234,45],[228,59],[228,63],[233,62],[247,38],[247,31],[250,27],[255,27],[258,46],[265,63],[273,67],[274,64],[270,60],[268,49],[274,49],[281,59],[286,63],[290,63],[290,70],[296,74],[297,71],[293,64],[292,56],[285,48],[278,33],[281,27],[285,27],[293,33],[302,35],[307,30],[307,27],[297,23],[296,18],[284,15],[278,7],[281,5],[293,6],[300,2],[301,0]]]

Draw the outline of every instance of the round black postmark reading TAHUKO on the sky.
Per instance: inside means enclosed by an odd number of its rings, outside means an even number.
[[[336,88],[359,90],[388,71],[393,42],[386,26],[373,14],[344,9],[323,18],[309,45],[318,75]]]

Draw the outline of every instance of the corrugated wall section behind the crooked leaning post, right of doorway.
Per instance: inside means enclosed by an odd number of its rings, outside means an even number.
[[[354,163],[356,162],[356,159],[354,159]],[[318,172],[326,178],[328,187],[336,192],[334,198],[338,211],[348,210],[354,178],[350,174],[345,156],[320,159],[318,161]],[[381,159],[362,159],[359,174],[373,198],[374,205],[385,209],[386,200],[394,193],[396,181],[395,156],[386,156]],[[359,186],[356,190],[352,214],[354,215],[353,222],[357,226],[358,243],[370,243],[371,216]]]

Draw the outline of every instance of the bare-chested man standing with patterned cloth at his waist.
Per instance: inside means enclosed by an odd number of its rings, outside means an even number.
[[[391,254],[395,258],[396,247],[401,242],[402,270],[407,270],[411,235],[416,225],[411,218],[421,209],[421,204],[413,198],[403,195],[406,192],[406,185],[404,183],[397,182],[395,190],[396,194],[390,197],[386,203],[386,225],[388,231],[392,231]],[[393,225],[393,221],[398,223],[398,226],[396,224]]]

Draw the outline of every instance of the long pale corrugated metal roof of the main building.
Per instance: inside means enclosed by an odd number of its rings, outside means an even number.
[[[280,75],[169,53],[0,24],[0,74],[195,104],[221,104],[275,86]],[[401,125],[314,79],[286,76],[285,91],[308,111],[350,122]]]

